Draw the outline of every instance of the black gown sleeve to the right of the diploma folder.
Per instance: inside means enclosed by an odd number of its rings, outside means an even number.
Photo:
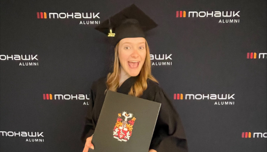
[[[162,105],[158,113],[149,149],[158,151],[159,144],[163,139],[171,137],[172,140],[175,140],[177,146],[174,149],[177,149],[177,151],[188,151],[182,122],[171,100],[163,90],[159,90],[155,94],[154,102],[161,103]]]

